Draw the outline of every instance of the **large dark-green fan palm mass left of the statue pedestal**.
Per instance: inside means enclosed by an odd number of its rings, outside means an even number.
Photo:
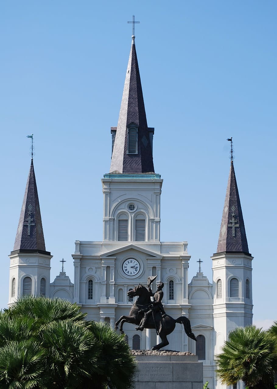
[[[0,312],[0,387],[127,389],[136,364],[123,335],[76,304],[26,296]]]

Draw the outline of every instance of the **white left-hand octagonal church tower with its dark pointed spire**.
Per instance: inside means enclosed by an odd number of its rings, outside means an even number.
[[[48,296],[51,253],[46,251],[33,159],[27,179],[14,249],[9,255],[9,302],[18,296]]]

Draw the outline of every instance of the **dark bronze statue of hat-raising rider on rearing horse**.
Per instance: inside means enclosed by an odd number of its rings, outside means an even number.
[[[119,331],[124,334],[123,324],[125,322],[137,325],[137,331],[143,331],[145,328],[154,328],[162,342],[152,347],[151,350],[159,350],[169,344],[166,336],[171,334],[175,329],[176,323],[179,323],[183,324],[187,336],[196,341],[196,337],[191,331],[191,323],[187,317],[180,316],[178,319],[173,319],[173,317],[164,312],[162,306],[162,298],[164,296],[162,288],[164,287],[164,283],[159,282],[155,293],[152,293],[151,289],[151,284],[156,278],[157,276],[148,277],[147,289],[142,284],[139,284],[127,293],[129,301],[131,301],[134,296],[138,296],[138,298],[133,303],[129,316],[123,315],[115,323],[115,330],[118,329],[120,323]],[[153,301],[151,300],[151,297],[153,298]]]

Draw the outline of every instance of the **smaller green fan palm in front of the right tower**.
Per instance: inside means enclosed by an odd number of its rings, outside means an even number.
[[[255,326],[236,328],[215,356],[222,383],[242,380],[249,389],[274,389],[277,343],[270,333]]]

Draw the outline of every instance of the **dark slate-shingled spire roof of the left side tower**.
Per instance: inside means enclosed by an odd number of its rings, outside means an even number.
[[[39,196],[35,182],[33,159],[27,179],[19,223],[14,242],[14,251],[43,252],[45,250],[44,235],[39,208]]]

